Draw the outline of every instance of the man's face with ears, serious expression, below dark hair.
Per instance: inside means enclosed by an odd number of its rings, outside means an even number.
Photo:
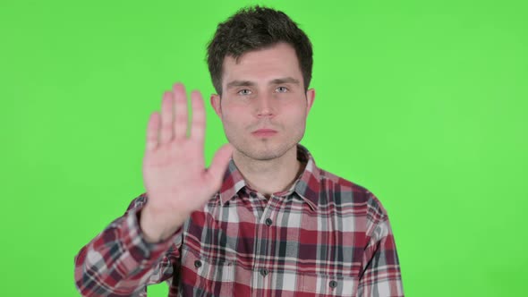
[[[227,140],[255,160],[281,157],[296,149],[315,91],[304,92],[294,47],[279,43],[224,60],[222,98],[211,96]],[[275,132],[257,132],[259,130]]]

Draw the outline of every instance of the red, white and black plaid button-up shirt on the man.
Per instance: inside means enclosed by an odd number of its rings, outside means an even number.
[[[404,296],[387,212],[370,191],[315,165],[269,199],[231,160],[224,183],[164,242],[139,226],[146,193],[75,257],[83,295],[146,296],[166,281],[169,296]]]

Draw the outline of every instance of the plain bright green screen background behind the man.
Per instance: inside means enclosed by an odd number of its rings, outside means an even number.
[[[149,114],[175,81],[209,98],[205,46],[255,3],[2,1],[1,295],[78,295],[73,257],[144,191]],[[311,38],[302,144],[381,199],[406,295],[526,295],[526,2],[258,3]]]

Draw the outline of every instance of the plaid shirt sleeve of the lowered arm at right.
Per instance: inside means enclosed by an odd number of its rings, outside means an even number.
[[[371,195],[367,215],[368,244],[362,259],[358,297],[404,296],[396,243],[387,211]]]

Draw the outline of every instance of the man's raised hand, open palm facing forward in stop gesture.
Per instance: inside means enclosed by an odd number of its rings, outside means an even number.
[[[183,84],[166,91],[161,115],[150,115],[143,181],[148,201],[141,209],[141,230],[149,242],[166,239],[202,208],[222,184],[233,153],[219,148],[206,170],[204,160],[205,109],[199,91],[192,91],[191,132],[187,136],[187,96]]]

